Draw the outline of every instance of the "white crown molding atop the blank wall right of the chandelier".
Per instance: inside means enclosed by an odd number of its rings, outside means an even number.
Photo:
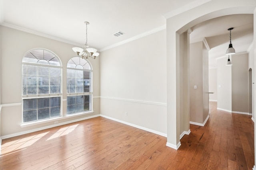
[[[121,42],[119,42],[119,43],[115,43],[115,44],[113,44],[113,45],[104,47],[104,48],[100,49],[100,52],[106,51],[106,50],[108,50],[108,49],[112,49],[112,48],[117,47],[117,46],[119,46],[119,45],[123,45],[123,44],[129,43],[129,42],[131,42],[131,41],[134,41],[134,40],[136,40],[136,39],[145,37],[145,36],[150,35],[150,34],[152,34],[152,33],[156,33],[156,32],[158,32],[158,31],[162,31],[162,30],[164,30],[164,29],[166,29],[166,25],[162,25],[162,26],[160,26],[160,27],[157,27],[157,28],[152,29],[152,30],[150,30],[150,31],[141,33],[141,34],[136,35],[136,36],[134,36],[134,37],[132,37],[132,38],[126,39],[126,40],[124,40],[124,41],[121,41]]]

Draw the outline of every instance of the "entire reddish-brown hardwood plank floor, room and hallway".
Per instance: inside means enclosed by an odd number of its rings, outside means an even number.
[[[204,127],[190,125],[178,150],[166,137],[103,117],[2,140],[1,170],[248,169],[254,166],[251,116],[210,104]]]

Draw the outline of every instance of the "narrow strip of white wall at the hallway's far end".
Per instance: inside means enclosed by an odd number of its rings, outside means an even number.
[[[217,68],[209,68],[209,92],[213,92],[209,94],[209,100],[217,102]]]

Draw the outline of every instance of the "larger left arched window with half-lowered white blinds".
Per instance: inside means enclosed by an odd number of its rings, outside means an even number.
[[[34,49],[22,59],[22,122],[60,117],[62,68],[58,57]]]

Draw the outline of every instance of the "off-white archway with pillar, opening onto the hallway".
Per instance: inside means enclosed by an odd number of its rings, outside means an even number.
[[[255,10],[255,1],[253,0],[248,1],[248,4],[246,5],[242,1],[237,2],[232,6],[230,6],[230,4],[232,4],[231,0],[228,0],[226,4],[223,4],[223,2],[220,1],[211,0],[175,16],[171,14],[165,16],[167,40],[167,145],[175,149],[178,149],[180,146],[180,122],[187,121],[180,116],[182,113],[182,109],[180,108],[186,107],[183,104],[180,92],[188,89],[188,86],[190,86],[189,82],[188,84],[180,83],[184,78],[187,78],[180,72],[182,69],[182,66],[180,66],[180,59],[187,55],[181,52],[184,43],[180,43],[180,35],[200,22],[225,15],[253,14]],[[187,104],[189,104],[189,102]],[[187,115],[183,115],[183,117],[187,117]],[[189,121],[184,124],[186,123],[189,123]]]

